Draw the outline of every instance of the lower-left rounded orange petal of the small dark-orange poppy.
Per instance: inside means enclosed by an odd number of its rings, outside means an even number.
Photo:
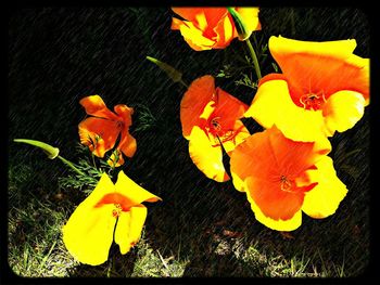
[[[83,120],[79,126],[80,143],[88,145],[98,157],[114,147],[119,133],[114,121],[90,117]]]

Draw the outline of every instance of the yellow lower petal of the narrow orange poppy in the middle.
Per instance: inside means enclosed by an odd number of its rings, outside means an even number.
[[[216,142],[208,140],[208,137],[199,127],[194,127],[189,138],[189,153],[194,165],[210,179],[224,182],[229,179],[223,165],[221,147],[213,146]]]

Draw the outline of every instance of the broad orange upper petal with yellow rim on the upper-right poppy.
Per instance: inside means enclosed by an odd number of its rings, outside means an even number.
[[[355,40],[326,42],[270,37],[269,50],[282,73],[303,94],[322,92],[326,99],[352,90],[369,99],[369,60],[353,54]],[[297,101],[297,99],[294,99]]]

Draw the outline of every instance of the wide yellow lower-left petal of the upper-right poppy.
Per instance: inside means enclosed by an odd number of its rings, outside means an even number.
[[[294,141],[326,140],[322,112],[296,106],[286,80],[269,80],[261,85],[244,116],[252,117],[264,128],[276,125],[284,137]]]

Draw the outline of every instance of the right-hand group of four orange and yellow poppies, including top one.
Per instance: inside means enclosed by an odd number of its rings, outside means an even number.
[[[172,28],[195,51],[226,48],[239,35],[227,9],[173,11],[186,21],[174,17]],[[257,8],[233,11],[248,35],[261,28]],[[369,104],[369,59],[353,54],[353,39],[312,42],[271,36],[268,48],[282,73],[259,79],[250,106],[215,88],[206,75],[185,93],[180,119],[190,157],[207,178],[230,179],[224,148],[232,183],[246,194],[255,218],[270,229],[293,231],[302,223],[302,211],[316,219],[331,216],[347,193],[328,156],[329,138],[363,117]],[[264,131],[251,134],[240,120],[244,117]]]

